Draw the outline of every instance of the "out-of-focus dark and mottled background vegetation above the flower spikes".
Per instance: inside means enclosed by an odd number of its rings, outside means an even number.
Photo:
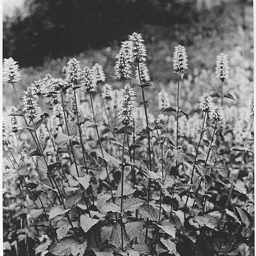
[[[20,95],[47,73],[63,77],[70,57],[83,66],[100,63],[115,87],[115,54],[133,31],[145,38],[152,93],[165,88],[175,95],[172,55],[178,44],[188,52],[187,86],[181,93],[190,104],[217,90],[214,66],[220,52],[230,58],[228,88],[236,88],[237,97],[253,90],[252,0],[25,0],[4,16],[3,57],[21,66]],[[4,83],[4,106],[15,105],[9,87]]]

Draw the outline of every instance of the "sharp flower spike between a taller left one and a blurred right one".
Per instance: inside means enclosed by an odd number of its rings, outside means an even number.
[[[93,71],[89,67],[85,67],[82,70],[80,84],[83,86],[85,93],[92,93],[97,90]]]

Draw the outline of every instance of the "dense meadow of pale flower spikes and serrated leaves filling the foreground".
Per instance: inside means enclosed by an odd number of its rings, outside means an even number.
[[[201,100],[186,102],[178,45],[175,94],[153,93],[143,37],[127,39],[110,74],[119,89],[100,63],[71,58],[64,79],[47,74],[20,102],[18,63],[4,59],[17,97],[3,122],[5,255],[254,255],[252,88],[230,87],[219,53],[218,89],[201,73]]]

